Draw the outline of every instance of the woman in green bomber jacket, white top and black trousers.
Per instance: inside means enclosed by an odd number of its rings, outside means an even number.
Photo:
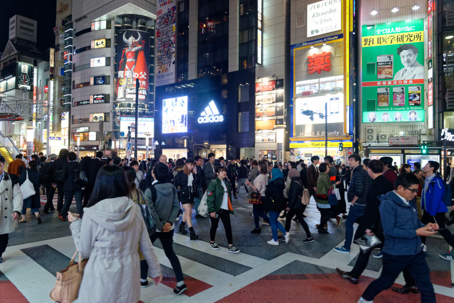
[[[214,250],[218,250],[219,246],[215,242],[216,230],[218,229],[219,219],[222,220],[228,242],[228,251],[230,253],[238,253],[240,250],[233,246],[232,227],[230,224],[230,214],[233,214],[232,207],[232,191],[230,185],[225,182],[227,170],[224,166],[218,166],[215,170],[213,180],[208,184],[206,190],[206,204],[210,213],[211,229],[210,229],[210,246]]]

